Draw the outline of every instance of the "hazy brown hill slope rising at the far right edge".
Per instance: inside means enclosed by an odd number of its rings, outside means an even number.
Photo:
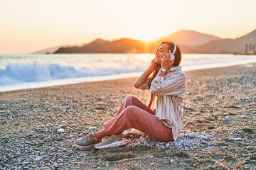
[[[256,30],[240,38],[213,40],[194,48],[202,53],[234,53],[245,52],[245,44],[250,43],[256,45]]]

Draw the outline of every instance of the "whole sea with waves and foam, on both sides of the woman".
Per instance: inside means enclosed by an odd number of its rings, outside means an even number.
[[[138,77],[154,54],[0,55],[0,91]],[[183,71],[256,62],[256,55],[183,54]]]

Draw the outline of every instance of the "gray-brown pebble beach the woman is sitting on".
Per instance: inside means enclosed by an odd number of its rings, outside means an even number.
[[[186,72],[175,142],[126,130],[124,147],[80,149],[124,98],[146,103],[137,77],[0,92],[0,169],[256,169],[256,63]]]

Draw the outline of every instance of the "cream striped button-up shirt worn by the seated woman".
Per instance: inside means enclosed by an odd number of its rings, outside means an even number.
[[[146,88],[147,82],[142,84]],[[183,124],[183,97],[186,91],[186,74],[181,66],[170,67],[164,77],[156,77],[151,82],[150,91],[156,94],[156,118],[172,128],[174,140],[178,138]]]

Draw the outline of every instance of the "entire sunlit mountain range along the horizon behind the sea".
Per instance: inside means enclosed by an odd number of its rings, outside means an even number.
[[[100,38],[90,43],[75,46],[61,46],[41,50],[48,53],[154,53],[159,43],[171,40],[181,48],[183,53],[235,53],[245,52],[245,44],[256,45],[256,30],[235,39],[223,39],[214,35],[199,33],[195,30],[179,30],[170,35],[158,38],[151,42],[132,38],[118,40],[102,40]],[[248,46],[249,47],[249,46]],[[249,50],[249,49],[248,49]],[[33,52],[37,53],[37,52]]]

